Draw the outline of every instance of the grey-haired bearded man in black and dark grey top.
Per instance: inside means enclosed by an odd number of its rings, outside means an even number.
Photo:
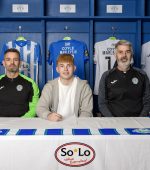
[[[130,63],[133,49],[130,42],[116,44],[117,66],[105,72],[99,86],[99,110],[103,116],[148,116],[150,111],[150,84],[145,72]]]

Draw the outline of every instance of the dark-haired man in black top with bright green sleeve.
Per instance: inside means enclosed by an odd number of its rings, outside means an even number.
[[[0,117],[34,117],[39,89],[31,78],[19,74],[18,50],[8,49],[3,65],[6,75],[0,76]]]

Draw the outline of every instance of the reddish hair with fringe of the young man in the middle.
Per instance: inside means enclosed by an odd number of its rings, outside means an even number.
[[[57,65],[62,62],[70,63],[74,65],[74,58],[71,54],[66,54],[66,53],[60,54],[59,57],[57,58]]]

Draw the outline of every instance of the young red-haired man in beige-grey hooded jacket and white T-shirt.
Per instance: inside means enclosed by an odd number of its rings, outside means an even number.
[[[37,104],[37,115],[50,121],[61,121],[71,116],[91,117],[92,90],[86,80],[74,76],[73,56],[61,54],[56,70],[60,76],[44,86]]]

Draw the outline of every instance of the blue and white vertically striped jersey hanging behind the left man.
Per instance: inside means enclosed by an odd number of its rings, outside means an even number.
[[[20,73],[32,78],[38,83],[38,66],[41,59],[40,45],[30,40],[9,41],[3,45],[0,62],[4,59],[5,51],[10,48],[15,48],[20,52]]]

